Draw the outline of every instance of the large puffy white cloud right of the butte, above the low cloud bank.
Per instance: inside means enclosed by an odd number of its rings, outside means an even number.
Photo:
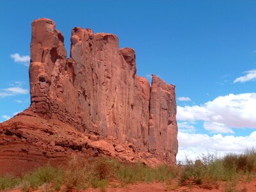
[[[202,106],[177,106],[177,120],[203,120],[226,127],[256,128],[256,93],[229,94]]]

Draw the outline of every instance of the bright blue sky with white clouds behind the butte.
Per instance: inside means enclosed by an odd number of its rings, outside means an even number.
[[[178,160],[255,145],[256,1],[1,0],[0,122],[30,104],[31,22],[41,17],[67,52],[75,26],[114,33],[135,49],[139,76],[175,84]]]

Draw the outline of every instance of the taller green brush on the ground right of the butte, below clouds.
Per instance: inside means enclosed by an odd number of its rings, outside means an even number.
[[[228,154],[217,158],[211,154],[196,161],[187,160],[182,166],[180,185],[200,185],[202,188],[218,188],[218,181],[226,182],[225,190],[236,188],[241,178],[251,180],[256,170],[254,150],[244,154]]]

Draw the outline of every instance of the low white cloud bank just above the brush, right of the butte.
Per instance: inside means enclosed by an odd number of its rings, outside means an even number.
[[[195,134],[178,133],[179,152],[177,161],[188,159],[198,159],[202,154],[217,154],[223,156],[229,153],[243,153],[247,149],[256,147],[256,131],[249,136],[223,136],[222,134]]]

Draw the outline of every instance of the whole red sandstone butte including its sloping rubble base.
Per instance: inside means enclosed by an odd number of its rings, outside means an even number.
[[[152,76],[150,88],[136,75],[134,49],[120,49],[116,35],[73,28],[67,58],[52,20],[31,26],[31,106],[0,124],[0,174],[70,154],[175,163],[175,86]]]

